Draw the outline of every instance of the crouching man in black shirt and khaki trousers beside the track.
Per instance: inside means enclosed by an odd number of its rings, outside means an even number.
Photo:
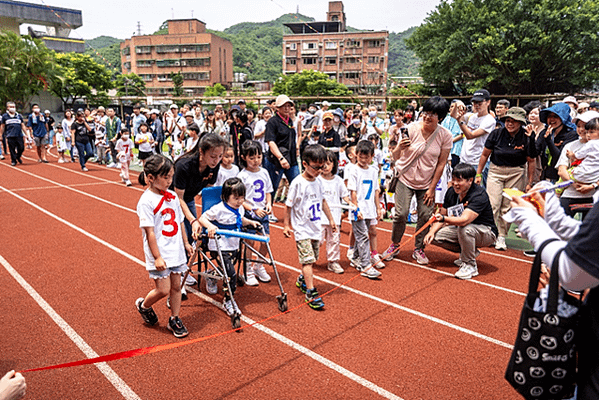
[[[437,221],[424,238],[424,244],[435,244],[460,253],[454,263],[460,267],[458,279],[478,275],[477,247],[490,246],[497,239],[497,226],[489,196],[482,186],[474,183],[476,171],[460,163],[452,172],[453,186],[445,193],[443,208],[435,215]]]

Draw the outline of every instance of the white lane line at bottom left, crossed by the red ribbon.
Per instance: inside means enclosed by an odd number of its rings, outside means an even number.
[[[6,271],[21,285],[23,289],[35,300],[35,302],[48,314],[50,318],[58,325],[69,339],[85,354],[87,358],[99,357],[98,353],[91,348],[89,344],[60,316],[50,304],[6,261],[0,256],[0,264]],[[140,397],[114,372],[105,362],[97,363],[95,366],[115,387],[116,390],[125,398],[130,400],[141,400]]]

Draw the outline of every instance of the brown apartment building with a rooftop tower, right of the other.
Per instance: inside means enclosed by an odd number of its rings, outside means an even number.
[[[285,24],[283,73],[304,69],[324,72],[354,92],[385,93],[388,31],[346,30],[343,2],[329,2],[327,20]]]

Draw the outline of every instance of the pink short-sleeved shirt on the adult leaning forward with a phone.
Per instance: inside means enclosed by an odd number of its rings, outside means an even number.
[[[409,188],[416,190],[428,189],[433,180],[433,175],[435,174],[435,168],[439,162],[441,152],[443,150],[451,150],[451,132],[441,125],[437,126],[435,132],[437,132],[437,135],[434,142],[431,143],[428,149],[426,149],[426,153],[422,154],[422,156],[420,156],[399,178],[399,180]],[[408,125],[408,134],[410,135],[412,144],[402,152],[401,157],[396,164],[398,171],[403,171],[426,146],[426,140],[422,136],[422,122]],[[432,138],[433,135],[434,133],[429,136],[429,139]]]

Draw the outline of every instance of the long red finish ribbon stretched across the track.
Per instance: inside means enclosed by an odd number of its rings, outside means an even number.
[[[421,233],[422,231],[424,231],[426,228],[428,228],[433,222],[435,222],[435,217],[431,217],[430,220],[428,220],[428,222],[426,224],[424,224],[424,226],[422,226],[422,228],[420,228],[417,232],[414,233],[414,235],[406,240],[404,243],[399,245],[399,248],[402,248],[404,246],[406,246],[408,243],[410,243],[415,237],[416,235],[418,235],[419,233]],[[342,286],[346,286],[347,284],[349,284],[351,281],[353,281],[354,279],[356,279],[358,276],[360,276],[360,274],[356,274],[354,275],[352,278],[348,279],[347,281],[339,284],[338,286],[335,286],[334,288],[332,288],[331,290],[329,290],[328,292],[324,293],[323,295],[321,295],[320,297],[324,297],[332,292],[334,292],[335,290],[339,289]],[[51,370],[51,369],[62,369],[62,368],[70,368],[70,367],[78,367],[81,365],[89,365],[89,364],[96,364],[96,363],[100,363],[100,362],[109,362],[109,361],[115,361],[115,360],[123,360],[126,358],[132,358],[132,357],[137,357],[137,356],[142,356],[145,354],[152,354],[152,353],[158,353],[161,351],[165,351],[165,350],[171,350],[171,349],[176,349],[177,347],[183,347],[183,346],[189,346],[190,344],[194,344],[194,343],[199,343],[199,342],[203,342],[209,339],[213,339],[219,336],[223,336],[223,335],[228,335],[230,333],[233,332],[237,332],[242,330],[243,328],[248,328],[248,327],[252,327],[254,325],[257,324],[263,324],[267,321],[270,321],[271,319],[274,318],[278,318],[282,315],[288,314],[292,311],[297,310],[298,308],[301,308],[305,305],[307,305],[308,303],[304,302],[304,303],[300,303],[299,305],[290,308],[289,310],[285,311],[285,312],[281,312],[279,314],[275,314],[272,315],[268,318],[263,319],[262,321],[257,321],[254,322],[252,324],[249,325],[244,325],[242,327],[239,327],[237,329],[231,329],[225,332],[219,332],[219,333],[215,333],[213,335],[209,335],[209,336],[204,336],[201,338],[197,338],[197,339],[190,339],[190,340],[186,340],[183,342],[174,342],[174,343],[169,343],[169,344],[161,344],[158,346],[151,346],[151,347],[144,347],[141,349],[135,349],[135,350],[127,350],[127,351],[121,351],[119,353],[112,353],[112,354],[107,354],[104,356],[100,356],[100,357],[94,357],[94,358],[87,358],[84,360],[79,360],[79,361],[71,361],[68,363],[64,363],[64,364],[56,364],[56,365],[51,365],[51,366],[47,366],[47,367],[40,367],[40,368],[31,368],[31,369],[26,369],[23,371],[19,371],[20,373],[24,374],[26,372],[37,372],[37,371],[47,371],[47,370]]]

